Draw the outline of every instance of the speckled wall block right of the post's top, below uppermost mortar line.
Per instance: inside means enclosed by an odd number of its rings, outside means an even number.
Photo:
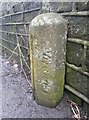
[[[69,20],[68,37],[89,40],[87,17],[66,17]]]

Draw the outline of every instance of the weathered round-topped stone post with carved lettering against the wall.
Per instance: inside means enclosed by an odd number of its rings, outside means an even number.
[[[63,96],[67,21],[57,13],[35,17],[30,24],[30,60],[38,104],[55,107]]]

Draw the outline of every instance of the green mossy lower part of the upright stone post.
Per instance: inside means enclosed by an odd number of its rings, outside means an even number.
[[[36,80],[36,78],[34,78]],[[43,84],[35,81],[35,99],[38,104],[48,107],[55,107],[61,100],[64,92],[64,70],[55,71],[55,78],[50,77],[53,85],[47,88],[43,88]],[[47,81],[49,81],[48,79]],[[47,86],[47,84],[46,84]]]

